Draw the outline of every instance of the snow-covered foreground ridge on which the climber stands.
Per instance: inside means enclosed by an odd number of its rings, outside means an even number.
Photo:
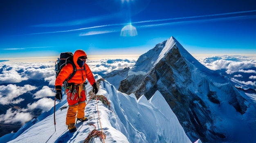
[[[17,133],[2,136],[0,142],[82,143],[94,129],[93,125],[99,131],[102,125],[106,134],[105,143],[191,143],[160,92],[155,92],[149,101],[144,96],[137,100],[134,94],[124,94],[117,91],[108,81],[99,81],[100,90],[97,95],[104,95],[111,108],[103,105],[101,101],[88,100],[85,115],[89,120],[77,123],[76,132],[69,133],[65,125],[68,105],[64,95],[63,100],[56,105],[56,132],[52,108],[24,125]],[[90,89],[91,86],[88,85],[87,90]],[[92,142],[101,141],[96,137]]]

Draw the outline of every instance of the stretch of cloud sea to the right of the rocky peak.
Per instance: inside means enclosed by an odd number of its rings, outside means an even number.
[[[197,57],[198,61],[221,75],[241,81],[256,88],[256,57],[211,56]]]

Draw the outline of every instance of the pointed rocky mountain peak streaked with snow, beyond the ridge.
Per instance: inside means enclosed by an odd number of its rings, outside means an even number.
[[[150,99],[156,90],[164,96],[191,141],[238,141],[234,134],[243,131],[229,131],[232,118],[245,128],[256,126],[255,103],[227,79],[200,64],[174,37],[141,55],[119,86],[119,91],[134,93],[137,98],[145,95]]]

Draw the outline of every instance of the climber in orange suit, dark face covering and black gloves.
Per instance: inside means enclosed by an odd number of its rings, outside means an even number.
[[[86,59],[87,55],[85,51],[75,51],[73,61],[75,65],[74,67],[76,69],[73,68],[71,63],[67,63],[67,65],[61,69],[61,72],[58,74],[55,81],[56,99],[62,99],[62,86],[65,88],[65,92],[67,94],[67,103],[69,105],[69,108],[67,110],[66,125],[68,125],[68,129],[70,132],[76,131],[76,120],[82,122],[88,121],[84,114],[86,106],[86,78],[90,82],[93,88],[93,92],[95,94],[98,92],[98,88],[96,86],[96,82],[92,74],[92,71],[90,70],[89,66],[85,63]],[[74,75],[71,79],[69,79],[69,76],[74,71]]]

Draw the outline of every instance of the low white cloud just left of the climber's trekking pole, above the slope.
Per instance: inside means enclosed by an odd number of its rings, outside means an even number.
[[[56,101],[56,104],[57,103],[58,102]],[[54,106],[54,100],[50,98],[42,98],[34,103],[28,104],[27,108],[29,110],[34,110],[36,108],[39,108],[43,110],[42,112],[45,112],[45,111],[49,111],[53,106]]]

